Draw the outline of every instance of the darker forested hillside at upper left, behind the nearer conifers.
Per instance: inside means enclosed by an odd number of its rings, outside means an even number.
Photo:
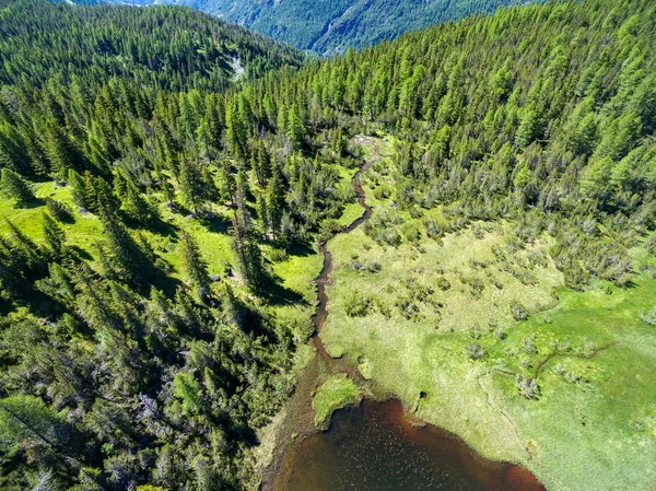
[[[236,78],[237,62],[247,80],[302,59],[290,47],[191,10],[2,4],[3,84],[117,77],[161,89],[222,91]]]

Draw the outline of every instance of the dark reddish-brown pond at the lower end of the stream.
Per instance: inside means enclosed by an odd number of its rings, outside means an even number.
[[[336,412],[329,431],[285,460],[277,491],[544,490],[522,467],[485,460],[436,426],[413,426],[398,400]]]

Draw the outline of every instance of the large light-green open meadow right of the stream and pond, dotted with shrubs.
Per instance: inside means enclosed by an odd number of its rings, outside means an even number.
[[[375,192],[385,165],[366,176],[367,202],[374,217],[398,214],[388,227],[401,244],[379,245],[363,227],[331,239],[328,350],[339,347],[382,393],[487,457],[523,463],[550,490],[649,489],[656,328],[639,315],[656,305],[656,280],[636,272],[628,289],[566,290],[549,237],[517,248],[512,223],[429,238],[423,222],[440,221],[440,210],[412,218],[390,208]],[[403,235],[412,224],[414,244]],[[656,261],[634,253],[635,271]],[[535,378],[534,398],[520,394],[522,377]]]

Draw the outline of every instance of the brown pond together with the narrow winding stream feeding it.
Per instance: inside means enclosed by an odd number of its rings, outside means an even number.
[[[360,184],[360,176],[372,166],[365,162],[355,173],[352,187],[363,214],[338,233],[349,233],[366,221],[372,209]],[[324,267],[315,280],[317,311],[313,317],[312,339],[317,349],[313,363],[302,374],[293,406],[312,412],[312,394],[316,390],[317,361],[328,373],[347,372],[363,384],[359,371],[344,359],[332,359],[320,339],[328,316],[326,285],[331,284],[332,255],[326,242],[319,243]],[[314,388],[313,388],[314,387]],[[306,409],[303,409],[306,408]],[[293,420],[293,418],[292,418]],[[311,421],[313,418],[311,418]],[[304,426],[304,424],[301,424]],[[290,431],[290,429],[288,429]],[[332,414],[330,429],[296,428],[301,436],[283,445],[284,455],[273,464],[272,479],[263,489],[273,491],[544,491],[525,468],[494,463],[479,456],[455,435],[433,425],[410,424],[398,400],[364,400],[359,407]]]

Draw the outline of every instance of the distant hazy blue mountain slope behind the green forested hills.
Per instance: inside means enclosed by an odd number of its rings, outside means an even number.
[[[95,0],[91,0],[95,1]],[[491,13],[524,0],[106,0],[178,4],[219,15],[296,48],[330,56],[431,24]],[[87,2],[87,0],[81,0]]]

